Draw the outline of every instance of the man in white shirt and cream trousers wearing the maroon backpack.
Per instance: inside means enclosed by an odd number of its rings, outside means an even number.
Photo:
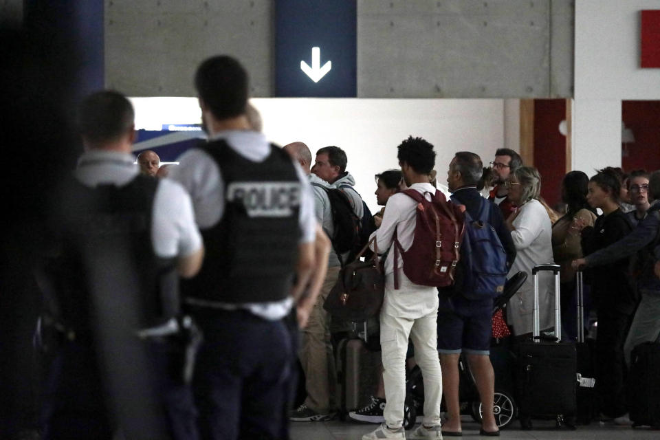
[[[420,137],[408,137],[399,145],[399,165],[408,189],[434,194],[429,174],[435,164],[433,146]],[[417,202],[405,194],[395,194],[387,202],[380,228],[371,234],[379,252],[391,247],[394,233],[404,251],[412,245]],[[372,247],[373,249],[373,247]],[[438,291],[435,287],[413,284],[398,267],[399,289],[394,285],[394,255],[385,261],[385,298],[380,311],[380,344],[385,384],[385,423],[365,434],[363,440],[405,439],[403,428],[406,398],[406,351],[408,338],[415,346],[415,360],[424,380],[424,418],[408,438],[441,439],[440,400],[442,374],[437,352]],[[399,261],[401,263],[401,261]]]

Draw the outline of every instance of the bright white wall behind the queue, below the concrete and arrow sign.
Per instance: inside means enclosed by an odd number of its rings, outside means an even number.
[[[199,123],[195,98],[132,101],[138,129]],[[456,151],[473,151],[487,163],[497,148],[505,146],[504,100],[254,98],[251,102],[261,112],[263,131],[272,142],[305,142],[313,156],[323,146],[343,148],[349,159],[347,170],[372,210],[376,208],[373,177],[398,168],[397,146],[409,135],[434,145],[443,184]]]

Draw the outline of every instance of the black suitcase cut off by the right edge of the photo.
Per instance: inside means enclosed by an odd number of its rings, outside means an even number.
[[[660,428],[660,344],[643,342],[632,349],[628,405],[633,426]]]

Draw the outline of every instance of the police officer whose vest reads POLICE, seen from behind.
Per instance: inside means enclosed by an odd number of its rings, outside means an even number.
[[[193,380],[200,434],[281,438],[293,354],[283,318],[314,265],[311,188],[250,128],[236,60],[201,63],[195,88],[209,142],[184,153],[170,178],[190,191],[207,252],[184,298],[204,333]]]

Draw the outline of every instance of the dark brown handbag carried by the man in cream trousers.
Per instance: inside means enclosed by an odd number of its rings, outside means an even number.
[[[366,261],[360,257],[373,242],[373,255]],[[383,305],[385,271],[378,257],[375,237],[367,243],[353,262],[342,267],[337,283],[331,289],[323,308],[340,320],[363,321],[375,316]]]

